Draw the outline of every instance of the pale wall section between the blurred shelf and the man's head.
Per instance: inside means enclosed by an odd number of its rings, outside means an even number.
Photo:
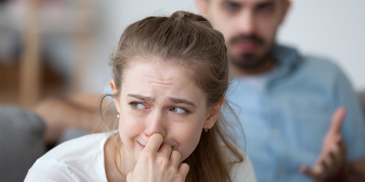
[[[110,68],[107,60],[116,49],[120,35],[129,24],[151,15],[169,15],[178,10],[194,11],[194,0],[109,0],[97,1],[99,34],[95,39],[95,62],[92,75],[83,84],[83,91],[100,91],[108,85]]]

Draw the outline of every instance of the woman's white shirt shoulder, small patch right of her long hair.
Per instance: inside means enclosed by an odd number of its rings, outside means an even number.
[[[256,182],[256,175],[251,160],[247,155],[243,156],[243,162],[234,164],[230,171],[232,182]]]

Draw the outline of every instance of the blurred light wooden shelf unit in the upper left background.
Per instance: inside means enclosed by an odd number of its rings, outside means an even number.
[[[74,37],[76,50],[73,77],[75,79],[72,85],[76,89],[80,87],[82,81],[79,72],[91,56],[91,39],[95,26],[93,1],[72,1],[74,4],[71,6],[62,3],[61,5],[42,4],[45,2],[43,0],[13,1],[13,4],[5,5],[3,11],[0,11],[0,31],[17,31],[21,34],[22,52],[17,76],[18,97],[20,104],[25,107],[32,107],[41,97],[40,39],[42,36],[70,35]],[[8,95],[15,95],[15,92]]]

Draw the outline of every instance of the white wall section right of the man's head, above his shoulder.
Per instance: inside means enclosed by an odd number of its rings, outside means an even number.
[[[364,0],[292,0],[278,40],[332,59],[365,90],[364,8]]]

